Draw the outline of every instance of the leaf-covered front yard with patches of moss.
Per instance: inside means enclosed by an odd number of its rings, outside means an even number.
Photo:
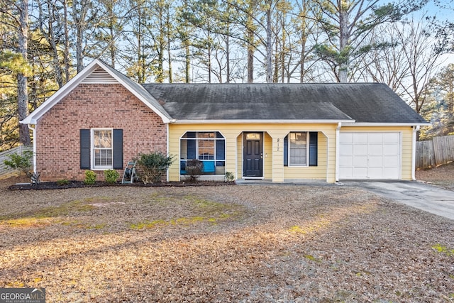
[[[48,302],[454,302],[454,221],[361,189],[16,181],[0,287]]]

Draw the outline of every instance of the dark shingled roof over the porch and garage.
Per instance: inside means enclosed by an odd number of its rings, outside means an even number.
[[[426,123],[386,84],[143,84],[177,120]]]

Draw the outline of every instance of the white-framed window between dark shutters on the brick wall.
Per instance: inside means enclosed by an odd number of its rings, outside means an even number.
[[[114,167],[114,136],[111,128],[92,128],[92,167],[94,170]]]

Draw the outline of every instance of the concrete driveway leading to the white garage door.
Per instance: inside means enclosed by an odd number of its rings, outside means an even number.
[[[454,192],[422,182],[345,181],[344,186],[360,187],[387,199],[454,220]]]

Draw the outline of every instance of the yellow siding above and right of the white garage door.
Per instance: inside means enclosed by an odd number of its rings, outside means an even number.
[[[413,151],[413,128],[411,126],[365,126],[365,127],[342,127],[341,132],[390,132],[390,133],[401,133],[401,179],[411,180],[411,163],[412,163],[412,151]]]

